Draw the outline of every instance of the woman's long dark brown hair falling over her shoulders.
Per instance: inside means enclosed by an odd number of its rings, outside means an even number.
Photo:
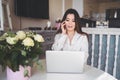
[[[61,22],[65,21],[68,14],[73,14],[75,16],[75,31],[77,31],[80,34],[86,34],[81,29],[82,27],[81,27],[81,24],[80,24],[80,16],[79,16],[78,12],[75,9],[70,8],[70,9],[66,10]],[[61,28],[59,28],[57,33],[62,33]]]

